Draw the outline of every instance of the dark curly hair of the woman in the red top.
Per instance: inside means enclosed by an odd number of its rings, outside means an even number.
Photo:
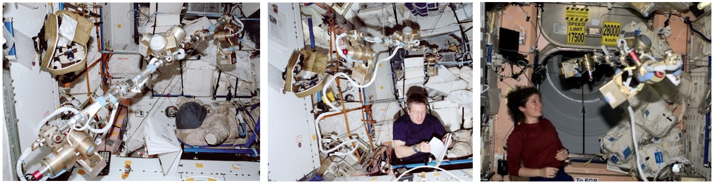
[[[526,120],[519,107],[525,107],[529,97],[533,94],[538,94],[541,97],[538,89],[531,86],[516,86],[514,90],[506,94],[506,107],[509,109],[509,116],[514,120],[514,124]]]

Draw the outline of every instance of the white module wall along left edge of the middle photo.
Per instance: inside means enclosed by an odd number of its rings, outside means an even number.
[[[267,117],[262,125],[267,142],[268,181],[297,181],[320,167],[317,138],[310,97],[297,98],[283,93],[282,72],[291,54],[305,45],[298,4],[267,4],[268,92]],[[273,11],[276,9],[277,11]]]

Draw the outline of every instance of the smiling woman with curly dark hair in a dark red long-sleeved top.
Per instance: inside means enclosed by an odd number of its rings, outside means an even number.
[[[563,170],[568,150],[558,139],[556,127],[542,117],[538,89],[516,86],[507,99],[509,115],[515,119],[506,141],[509,174],[530,177],[530,181],[573,181]]]

